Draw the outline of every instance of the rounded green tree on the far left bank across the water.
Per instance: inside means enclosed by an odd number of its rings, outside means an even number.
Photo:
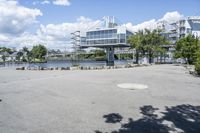
[[[44,59],[44,56],[47,54],[47,48],[41,44],[33,46],[31,54],[35,59]]]

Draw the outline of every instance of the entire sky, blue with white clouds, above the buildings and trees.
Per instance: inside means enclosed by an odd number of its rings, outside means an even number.
[[[115,16],[132,31],[200,16],[200,0],[0,0],[0,46],[70,48],[70,33]],[[96,28],[96,27],[95,27]]]

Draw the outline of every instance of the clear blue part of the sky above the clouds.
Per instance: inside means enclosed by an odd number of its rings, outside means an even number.
[[[79,16],[101,19],[116,16],[121,22],[142,23],[159,19],[166,12],[178,11],[185,16],[200,15],[200,0],[70,0],[69,6],[36,4],[33,0],[20,0],[20,4],[38,8],[43,12],[39,18],[43,24],[73,22]]]

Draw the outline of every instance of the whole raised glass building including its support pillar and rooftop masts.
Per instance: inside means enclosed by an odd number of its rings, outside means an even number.
[[[107,53],[108,65],[114,64],[114,49],[130,47],[127,43],[129,36],[133,35],[125,26],[115,23],[114,17],[106,18],[105,27],[86,31],[85,37],[80,37],[80,47],[104,48]]]

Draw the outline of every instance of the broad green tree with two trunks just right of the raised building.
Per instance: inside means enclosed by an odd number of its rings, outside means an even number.
[[[139,31],[131,36],[128,42],[131,44],[131,47],[136,50],[136,63],[138,63],[140,53],[143,55],[147,53],[149,63],[152,63],[155,55],[158,56],[158,53],[161,55],[161,53],[165,52],[163,45],[169,44],[167,39],[162,36],[160,30],[150,31],[148,29]]]

